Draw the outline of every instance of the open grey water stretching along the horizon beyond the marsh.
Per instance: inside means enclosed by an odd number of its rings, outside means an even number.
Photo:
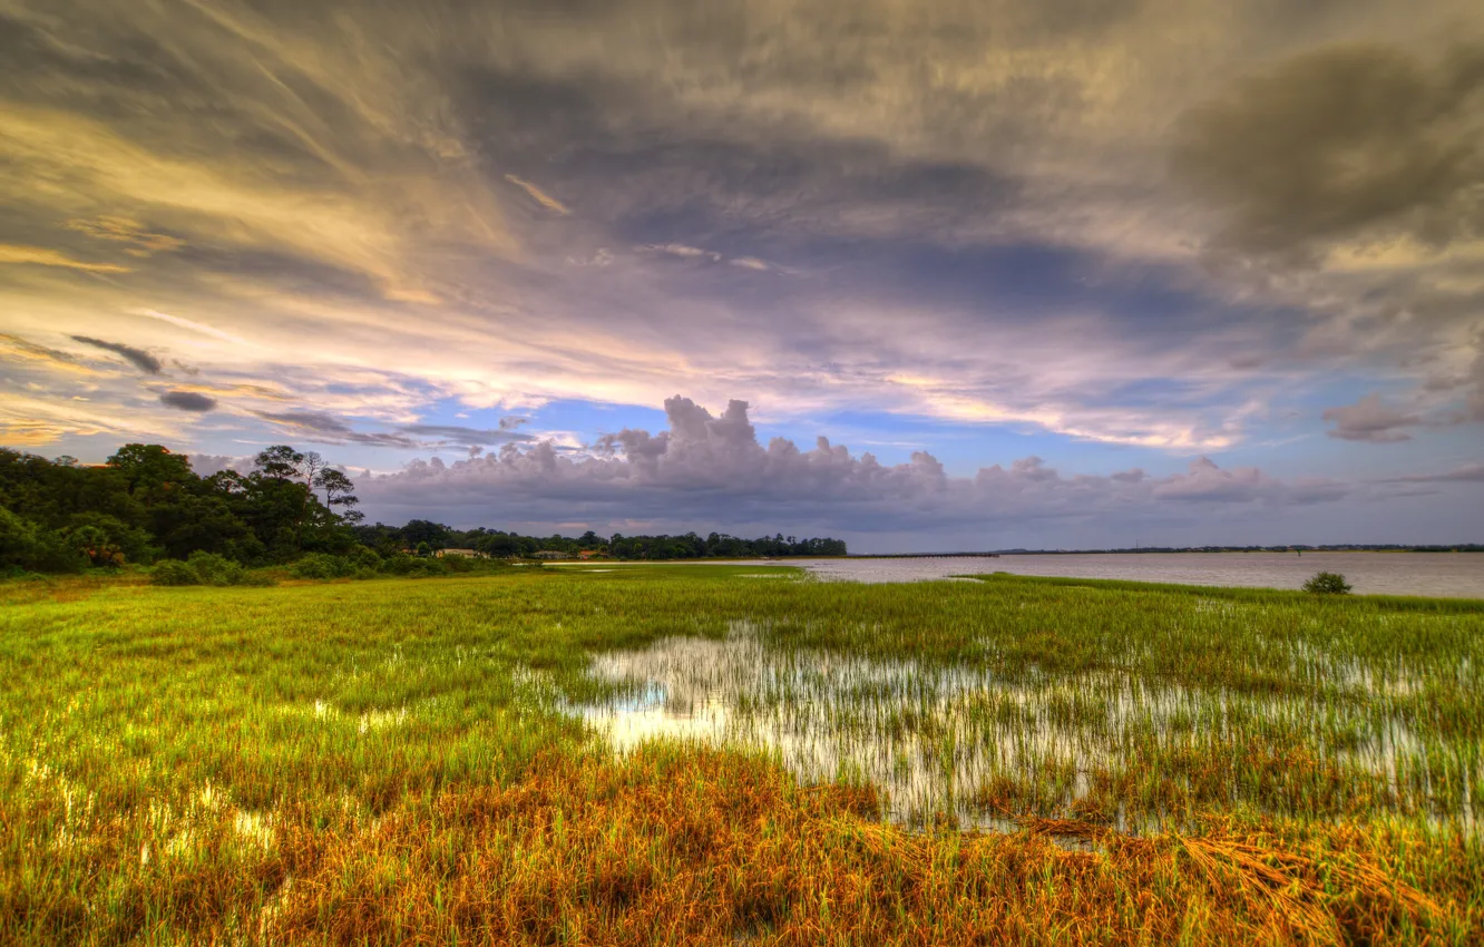
[[[1022,576],[1132,579],[1181,585],[1297,589],[1316,571],[1337,571],[1370,595],[1484,598],[1480,552],[1144,552],[1002,555],[944,560],[784,560],[822,579],[920,582],[953,574],[1009,571]]]

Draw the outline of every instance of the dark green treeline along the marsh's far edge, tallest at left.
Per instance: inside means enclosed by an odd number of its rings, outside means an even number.
[[[190,560],[199,576],[289,566],[313,577],[459,571],[445,551],[491,560],[537,554],[635,560],[844,555],[838,539],[775,536],[519,536],[413,520],[364,524],[355,484],[315,451],[275,445],[252,471],[202,476],[186,454],[126,444],[104,465],[0,448],[0,571]],[[224,571],[230,564],[234,571]],[[184,580],[184,579],[183,579]]]

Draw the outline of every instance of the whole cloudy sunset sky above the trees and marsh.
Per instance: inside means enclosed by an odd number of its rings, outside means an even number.
[[[0,0],[0,445],[852,551],[1484,540],[1475,0]]]

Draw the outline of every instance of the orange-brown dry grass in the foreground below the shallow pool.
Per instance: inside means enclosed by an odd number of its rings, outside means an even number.
[[[1370,944],[1484,937],[1385,833],[1212,824],[1126,837],[1071,821],[916,834],[870,793],[764,760],[542,756],[509,788],[344,833],[286,827],[273,943]],[[864,816],[864,818],[862,818]],[[1089,851],[1066,848],[1080,839]],[[1434,852],[1437,856],[1437,852]],[[1462,859],[1460,862],[1462,864]]]

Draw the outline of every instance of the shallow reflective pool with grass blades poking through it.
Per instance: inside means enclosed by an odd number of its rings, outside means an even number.
[[[1196,603],[1192,620],[1206,612]],[[1155,828],[1165,818],[1155,784],[1187,778],[1174,770],[1189,760],[1206,766],[1241,756],[1257,733],[1281,732],[1273,745],[1328,760],[1342,793],[1389,787],[1428,799],[1431,787],[1408,788],[1408,775],[1442,758],[1441,745],[1419,741],[1398,707],[1416,683],[1410,675],[1374,675],[1301,641],[1291,653],[1298,677],[1334,678],[1364,696],[1196,689],[1117,671],[1006,677],[974,655],[956,665],[873,661],[773,647],[766,632],[733,622],[724,640],[668,638],[598,655],[594,675],[622,684],[620,692],[571,710],[620,753],[654,738],[699,741],[775,753],[806,784],[870,782],[883,793],[886,816],[914,827],[948,818],[1003,828],[1008,815],[1039,809]],[[1454,790],[1447,802],[1431,800],[1466,821],[1472,784],[1484,778],[1471,758],[1459,757],[1453,772],[1462,799]],[[1166,769],[1149,781],[1147,773]],[[1221,802],[1306,797],[1297,785],[1254,788],[1241,769],[1223,778]],[[1098,779],[1125,781],[1125,791],[1141,797],[1140,815],[1126,819],[1125,803],[1134,800],[1100,794]]]

